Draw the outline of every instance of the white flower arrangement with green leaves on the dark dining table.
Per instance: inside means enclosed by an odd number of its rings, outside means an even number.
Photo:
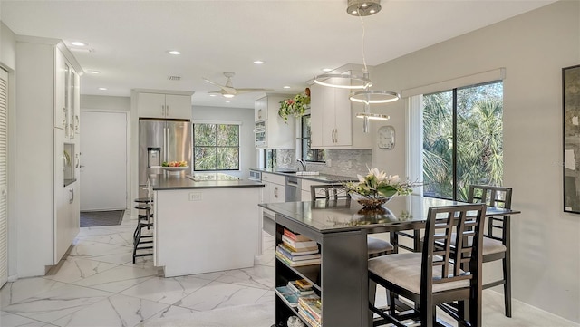
[[[358,182],[346,182],[344,188],[349,194],[357,194],[370,199],[410,195],[413,187],[410,182],[401,182],[399,175],[391,176],[378,168],[369,169],[366,176],[357,175]]]

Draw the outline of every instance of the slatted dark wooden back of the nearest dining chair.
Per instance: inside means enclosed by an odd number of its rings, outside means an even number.
[[[421,292],[432,292],[433,284],[472,279],[479,274],[485,207],[430,207],[422,251],[422,262],[428,266],[421,269]],[[473,242],[468,242],[468,237]]]

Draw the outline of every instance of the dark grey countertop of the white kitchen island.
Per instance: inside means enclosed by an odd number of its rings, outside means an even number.
[[[263,188],[264,184],[252,180],[200,180],[195,181],[180,175],[151,175],[150,183],[154,191],[169,189],[193,189],[193,188]]]

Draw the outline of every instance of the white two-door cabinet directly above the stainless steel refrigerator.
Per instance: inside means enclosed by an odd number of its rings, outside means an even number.
[[[191,119],[191,95],[137,92],[137,112],[144,118]]]

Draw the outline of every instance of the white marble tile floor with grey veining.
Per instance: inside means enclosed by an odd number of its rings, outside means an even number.
[[[264,255],[252,268],[164,278],[151,256],[132,264],[135,224],[126,214],[120,226],[81,228],[69,255],[48,274],[5,284],[0,326],[133,327],[160,320],[187,325],[183,319],[192,313],[273,303],[273,237],[265,234]],[[506,318],[501,299],[484,292],[485,326],[578,326],[517,301],[514,318]],[[381,295],[377,300],[383,301]]]

